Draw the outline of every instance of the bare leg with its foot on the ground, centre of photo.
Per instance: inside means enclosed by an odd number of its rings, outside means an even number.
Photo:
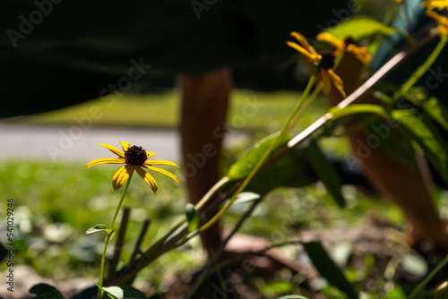
[[[190,202],[197,203],[220,179],[220,150],[226,132],[225,121],[232,79],[228,69],[221,69],[196,76],[181,75],[178,86],[182,98],[180,133],[188,198]],[[220,246],[222,232],[220,224],[217,224],[202,233],[202,244],[209,257]],[[227,260],[268,246],[269,243],[261,238],[236,234],[229,240],[221,258]],[[315,276],[312,269],[283,258],[275,250],[265,252],[263,256],[252,256],[247,261],[257,273],[267,277],[271,277],[282,267],[288,267],[309,278]],[[233,266],[239,269],[242,267]]]

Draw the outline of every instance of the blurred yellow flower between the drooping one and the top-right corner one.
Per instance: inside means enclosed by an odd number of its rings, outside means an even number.
[[[335,47],[335,56],[347,52],[353,54],[363,64],[368,64],[372,60],[372,56],[368,53],[367,47],[358,47],[352,38],[338,39],[328,32],[322,32],[315,39],[327,42]]]

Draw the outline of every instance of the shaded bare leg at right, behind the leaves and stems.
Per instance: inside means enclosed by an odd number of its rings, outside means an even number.
[[[337,73],[344,81],[349,94],[357,85],[361,65],[354,61],[353,56],[344,58],[345,61],[340,64]],[[338,104],[342,99],[337,92],[332,92],[329,98],[332,105]],[[373,103],[375,98],[366,98],[364,102]],[[393,130],[391,127],[388,128]],[[349,134],[353,151],[360,153],[361,150],[358,150],[360,144],[369,144],[368,138],[369,135],[362,131]],[[369,149],[368,155],[358,156],[366,175],[373,184],[403,210],[412,226],[411,234],[414,241],[427,240],[432,242],[437,250],[446,252],[448,238],[431,196],[431,183],[428,182],[429,175],[426,175],[426,162],[418,157],[415,165],[406,165],[381,149],[381,146]]]

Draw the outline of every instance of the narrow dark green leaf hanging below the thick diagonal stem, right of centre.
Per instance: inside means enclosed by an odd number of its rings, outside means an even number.
[[[342,182],[340,182],[340,177],[338,172],[332,166],[332,163],[323,155],[323,152],[317,146],[314,140],[311,140],[309,145],[303,149],[306,157],[308,158],[314,172],[325,185],[328,192],[332,194],[334,201],[341,207],[345,207],[345,198],[340,192],[342,187]]]

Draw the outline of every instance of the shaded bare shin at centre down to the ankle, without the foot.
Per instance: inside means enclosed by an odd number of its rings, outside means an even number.
[[[232,89],[228,69],[201,75],[181,75],[180,134],[189,201],[197,203],[220,179],[220,151],[226,132],[228,97]],[[201,235],[209,254],[221,242],[220,225]]]

